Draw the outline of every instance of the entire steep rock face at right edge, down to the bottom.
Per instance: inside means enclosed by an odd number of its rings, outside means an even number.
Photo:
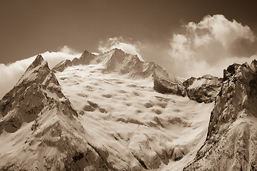
[[[224,70],[206,141],[184,170],[257,170],[256,61]]]

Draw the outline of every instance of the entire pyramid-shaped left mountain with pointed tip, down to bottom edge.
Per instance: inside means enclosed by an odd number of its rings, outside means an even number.
[[[0,170],[107,170],[42,56],[1,100]],[[95,142],[96,140],[94,140]],[[83,161],[83,162],[82,162]]]

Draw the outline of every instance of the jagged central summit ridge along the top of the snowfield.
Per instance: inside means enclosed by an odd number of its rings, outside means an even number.
[[[140,61],[137,56],[125,53],[114,48],[111,51],[101,53],[98,56],[85,51],[80,58],[74,58],[73,61],[63,61],[58,63],[53,71],[63,71],[68,66],[99,64],[103,66],[103,73],[117,72],[130,76],[130,78],[152,78],[154,81],[154,90],[159,93],[172,93],[186,96],[183,83],[174,76],[170,75],[162,67],[153,62]]]

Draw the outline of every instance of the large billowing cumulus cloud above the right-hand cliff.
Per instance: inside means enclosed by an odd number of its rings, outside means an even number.
[[[222,77],[223,69],[230,64],[249,63],[256,58],[253,31],[223,15],[205,16],[198,24],[190,22],[169,42],[172,73],[182,77],[206,73]]]

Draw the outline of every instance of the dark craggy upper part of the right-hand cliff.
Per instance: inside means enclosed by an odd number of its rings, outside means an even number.
[[[238,115],[240,115],[239,112],[249,105],[248,101],[251,100],[251,98],[253,98],[253,102],[257,99],[252,93],[253,91],[256,92],[257,86],[254,85],[256,84],[257,76],[256,73],[251,70],[248,63],[243,63],[242,65],[234,63],[224,70],[224,76],[226,76],[226,78],[221,86],[221,92],[219,93],[214,110],[218,110],[218,108],[219,110],[220,108],[225,109],[225,106],[230,106],[233,112],[231,113],[229,110],[224,110],[222,117],[218,113],[212,115],[211,117],[218,117],[219,119],[216,118],[217,120],[215,121],[211,120],[209,134],[214,130],[219,130],[217,129],[219,128],[219,123],[233,123],[236,118],[238,118]],[[257,103],[257,101],[255,103]],[[216,123],[217,121],[218,123]],[[216,125],[215,129],[213,129],[214,125]]]

